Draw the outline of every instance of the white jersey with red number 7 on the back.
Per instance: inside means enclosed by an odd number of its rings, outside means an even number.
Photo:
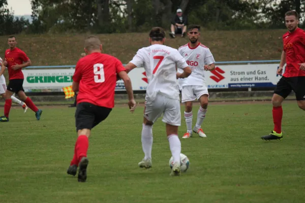
[[[144,67],[148,79],[146,96],[155,99],[158,93],[179,100],[176,67],[185,69],[188,64],[177,49],[155,44],[139,49],[131,63]]]

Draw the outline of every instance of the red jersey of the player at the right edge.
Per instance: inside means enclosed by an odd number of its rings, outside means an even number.
[[[305,76],[298,63],[305,63],[305,31],[296,28],[293,32],[283,35],[284,51],[286,53],[286,69],[283,76]]]

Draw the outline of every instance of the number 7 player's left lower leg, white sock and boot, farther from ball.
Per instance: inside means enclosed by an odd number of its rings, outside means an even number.
[[[151,150],[153,148],[153,125],[143,123],[141,141],[144,158],[138,163],[138,165],[141,168],[150,168],[152,166]]]

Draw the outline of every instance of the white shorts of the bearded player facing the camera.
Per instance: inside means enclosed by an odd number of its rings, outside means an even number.
[[[199,99],[200,96],[207,94],[207,87],[205,86],[199,86],[199,85],[188,85],[183,86],[181,90],[181,103],[184,103],[186,101],[193,101],[196,98]]]

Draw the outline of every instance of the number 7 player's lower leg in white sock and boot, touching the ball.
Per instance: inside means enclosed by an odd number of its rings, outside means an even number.
[[[169,148],[173,157],[173,167],[171,170],[171,176],[180,176],[181,165],[180,165],[180,153],[181,153],[181,143],[177,134],[170,134],[167,136],[169,142]]]

